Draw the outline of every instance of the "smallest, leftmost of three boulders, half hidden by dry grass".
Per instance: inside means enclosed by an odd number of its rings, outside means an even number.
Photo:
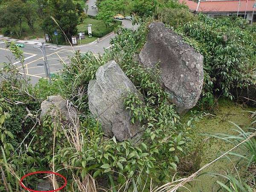
[[[69,102],[67,102],[67,100],[62,98],[60,95],[48,96],[48,98],[41,103],[40,119],[42,120],[47,112],[49,112],[50,116],[54,117],[56,115],[56,108],[61,113],[61,115],[64,116],[66,122],[71,122],[71,118],[73,120],[76,118],[78,119],[76,112],[72,108],[68,110],[67,105],[69,105]]]

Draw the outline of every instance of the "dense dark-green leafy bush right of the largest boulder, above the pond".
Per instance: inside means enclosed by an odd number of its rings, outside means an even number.
[[[247,22],[236,17],[209,18],[200,15],[176,30],[204,56],[204,92],[233,99],[233,88],[256,84],[256,40]]]

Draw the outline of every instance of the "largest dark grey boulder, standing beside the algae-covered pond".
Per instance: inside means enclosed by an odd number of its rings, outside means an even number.
[[[161,22],[151,23],[139,60],[149,68],[159,64],[161,84],[171,94],[178,112],[184,113],[196,105],[204,81],[204,58],[179,35]]]

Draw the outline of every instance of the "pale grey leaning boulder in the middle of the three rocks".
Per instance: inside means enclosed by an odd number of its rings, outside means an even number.
[[[99,119],[107,137],[115,136],[118,141],[132,138],[140,132],[140,123],[131,123],[124,99],[129,92],[140,97],[134,84],[128,79],[115,61],[99,67],[96,79],[88,85],[90,112]]]

